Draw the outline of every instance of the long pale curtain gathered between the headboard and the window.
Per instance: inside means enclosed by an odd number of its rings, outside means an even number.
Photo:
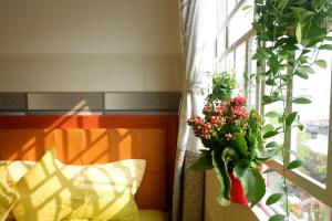
[[[183,38],[183,51],[186,62],[186,80],[184,82],[183,102],[179,113],[179,131],[177,143],[177,158],[175,167],[175,181],[173,194],[173,221],[189,220],[183,214],[185,200],[184,192],[189,183],[183,183],[185,156],[198,152],[200,141],[194,137],[187,126],[187,119],[193,115],[199,115],[204,105],[203,91],[206,86],[206,72],[212,71],[214,34],[215,31],[215,0],[179,0],[180,2],[180,28]],[[203,178],[203,176],[200,176]],[[203,201],[201,189],[197,190],[194,198]],[[193,188],[191,188],[193,189]],[[201,196],[197,196],[201,194]],[[203,202],[200,202],[203,206]],[[196,206],[197,207],[197,206]],[[203,207],[201,207],[203,209]],[[198,214],[197,214],[198,215]],[[190,218],[190,221],[201,218]]]

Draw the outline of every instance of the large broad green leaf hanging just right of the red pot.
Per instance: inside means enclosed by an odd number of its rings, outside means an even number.
[[[234,173],[241,181],[245,196],[251,202],[250,207],[253,207],[266,193],[264,179],[258,168],[236,166]]]

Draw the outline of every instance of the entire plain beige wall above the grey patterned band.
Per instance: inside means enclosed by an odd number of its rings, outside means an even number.
[[[1,0],[0,91],[179,91],[177,0]]]

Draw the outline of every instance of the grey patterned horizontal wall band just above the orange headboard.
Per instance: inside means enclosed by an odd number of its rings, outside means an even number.
[[[179,92],[0,93],[0,115],[118,115],[177,113]]]

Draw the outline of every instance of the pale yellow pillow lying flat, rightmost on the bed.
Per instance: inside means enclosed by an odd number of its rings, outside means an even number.
[[[127,159],[110,164],[81,167],[81,176],[73,180],[84,191],[86,203],[68,219],[139,220],[134,199],[145,170],[143,159]],[[72,166],[75,167],[75,166]]]

